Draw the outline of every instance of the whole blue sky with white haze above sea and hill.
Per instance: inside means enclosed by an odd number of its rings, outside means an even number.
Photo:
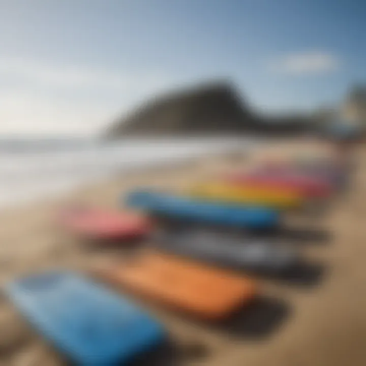
[[[254,110],[366,82],[364,0],[0,0],[0,135],[96,134],[145,98],[229,78]]]

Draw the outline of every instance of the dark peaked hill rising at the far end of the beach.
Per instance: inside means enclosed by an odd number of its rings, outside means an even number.
[[[288,120],[267,123],[227,82],[201,84],[160,96],[114,121],[106,138],[131,135],[276,133],[303,129]]]

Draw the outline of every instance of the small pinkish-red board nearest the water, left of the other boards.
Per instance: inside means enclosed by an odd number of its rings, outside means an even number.
[[[149,232],[148,219],[133,212],[109,211],[98,208],[66,209],[59,216],[66,229],[95,239],[129,239]]]

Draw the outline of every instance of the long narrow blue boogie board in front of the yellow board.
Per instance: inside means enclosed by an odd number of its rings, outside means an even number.
[[[276,227],[280,221],[280,211],[271,208],[198,201],[153,191],[131,192],[125,203],[153,214],[253,229]]]

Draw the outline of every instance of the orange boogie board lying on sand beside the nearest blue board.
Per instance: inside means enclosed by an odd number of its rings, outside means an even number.
[[[107,281],[207,320],[219,320],[250,302],[257,286],[249,278],[150,252],[117,268],[102,269]]]

